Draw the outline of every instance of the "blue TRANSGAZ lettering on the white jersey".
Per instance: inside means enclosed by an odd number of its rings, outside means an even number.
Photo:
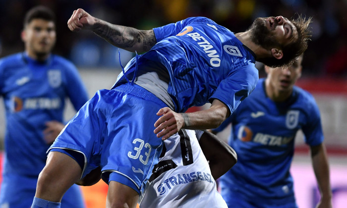
[[[171,190],[176,185],[186,184],[198,180],[214,183],[213,178],[209,173],[191,172],[187,174],[177,174],[161,183],[157,188],[157,192],[158,195],[163,195],[166,193],[167,189]]]

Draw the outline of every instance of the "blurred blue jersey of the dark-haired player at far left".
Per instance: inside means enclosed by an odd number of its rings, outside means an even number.
[[[62,122],[65,98],[78,110],[88,100],[76,67],[50,55],[36,61],[26,53],[0,59],[0,95],[6,111],[4,174],[38,176],[50,145],[45,123]]]

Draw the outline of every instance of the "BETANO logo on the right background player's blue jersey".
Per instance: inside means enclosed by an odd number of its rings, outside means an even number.
[[[252,137],[253,132],[249,127],[241,126],[238,129],[237,138],[242,142],[250,142],[252,141]],[[288,144],[293,139],[294,137],[281,137],[270,134],[257,133],[253,138],[253,142],[268,146],[281,146]]]

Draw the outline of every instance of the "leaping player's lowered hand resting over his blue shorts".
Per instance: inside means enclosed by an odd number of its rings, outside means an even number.
[[[169,107],[160,109],[157,115],[161,117],[154,124],[156,127],[154,133],[157,134],[158,138],[163,137],[163,141],[177,133],[184,125],[183,116]]]

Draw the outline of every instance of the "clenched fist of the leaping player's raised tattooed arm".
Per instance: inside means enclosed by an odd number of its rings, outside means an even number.
[[[91,29],[95,22],[96,20],[92,15],[79,8],[73,11],[70,19],[67,21],[67,27],[72,32],[78,32],[82,28]]]

